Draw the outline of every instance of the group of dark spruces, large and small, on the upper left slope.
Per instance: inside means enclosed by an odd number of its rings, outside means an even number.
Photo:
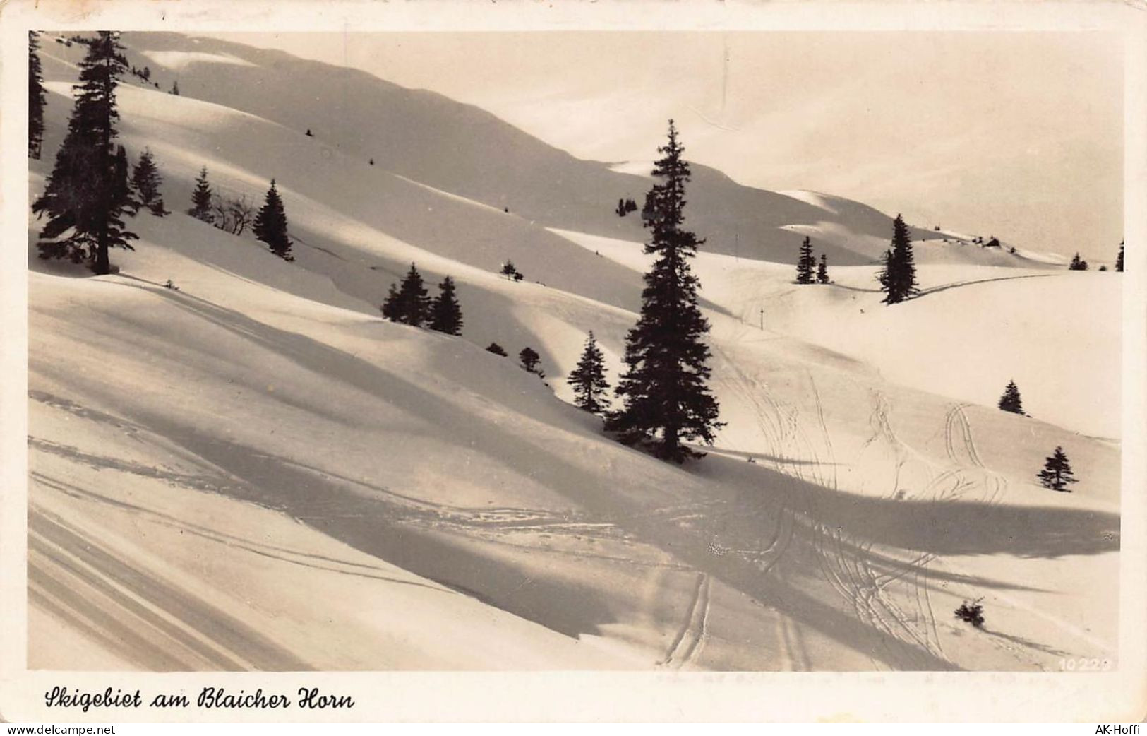
[[[87,54],[79,63],[79,84],[68,133],[56,153],[55,165],[48,177],[44,194],[32,203],[32,211],[47,216],[40,231],[40,257],[69,258],[87,263],[99,274],[109,273],[111,248],[133,249],[131,241],[138,235],[124,225],[125,216],[134,216],[147,208],[153,215],[170,214],[159,191],[163,178],[149,149],[140,153],[134,169],[128,172],[127,152],[116,142],[116,87],[128,70],[119,34],[100,31],[95,38],[85,39]],[[40,156],[44,141],[45,94],[37,51],[39,40],[29,36],[29,156]],[[141,78],[150,71],[133,70]],[[178,83],[173,94],[179,93]],[[247,196],[223,199],[216,196],[206,179],[206,169],[200,172],[192,193],[188,214],[221,230],[242,234],[248,223],[256,238],[267,243],[275,255],[292,261],[291,242],[287,234],[287,215],[274,179],[267,191],[263,208],[253,215]]]

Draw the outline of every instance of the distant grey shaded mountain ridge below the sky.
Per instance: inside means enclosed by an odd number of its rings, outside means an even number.
[[[299,133],[310,129],[314,137],[306,142],[319,152],[338,152],[364,164],[373,158],[377,169],[499,210],[508,208],[512,215],[545,226],[643,239],[637,214],[619,218],[612,210],[621,197],[640,203],[648,177],[576,158],[475,106],[364,71],[216,39],[125,33],[124,42],[132,63],[148,65],[161,90],[178,79],[185,96]],[[64,49],[50,42],[45,47],[47,55],[78,54],[78,47]],[[650,156],[663,134],[649,131]],[[688,141],[685,145],[688,148]],[[693,171],[688,224],[707,239],[703,248],[711,253],[788,263],[809,234],[832,263],[857,265],[877,258],[890,237],[890,218],[857,202],[837,197],[834,201],[844,207],[826,209],[802,197],[739,185],[703,165],[694,164]],[[915,230],[914,235],[939,234]],[[918,254],[921,263],[953,259],[1032,265],[980,247],[929,247]]]

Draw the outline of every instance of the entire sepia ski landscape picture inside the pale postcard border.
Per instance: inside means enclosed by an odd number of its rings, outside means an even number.
[[[28,671],[1119,671],[1121,34],[78,26]]]

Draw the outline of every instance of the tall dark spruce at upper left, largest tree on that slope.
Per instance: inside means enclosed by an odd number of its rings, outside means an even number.
[[[41,258],[87,262],[110,273],[110,248],[132,249],[136,238],[122,219],[131,206],[126,153],[115,147],[116,86],[127,70],[118,33],[100,31],[79,63],[76,102],[47,187],[32,211],[47,215],[38,247]],[[63,237],[64,233],[69,233]]]

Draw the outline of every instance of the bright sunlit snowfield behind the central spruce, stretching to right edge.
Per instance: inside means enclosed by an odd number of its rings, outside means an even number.
[[[638,243],[555,232],[648,266]],[[794,284],[791,265],[719,254],[700,254],[695,271],[702,295],[742,323],[845,354],[896,384],[991,406],[1015,380],[1033,417],[1122,433],[1118,273],[931,264],[919,272],[920,297],[889,309],[876,266],[830,268],[824,287]]]

